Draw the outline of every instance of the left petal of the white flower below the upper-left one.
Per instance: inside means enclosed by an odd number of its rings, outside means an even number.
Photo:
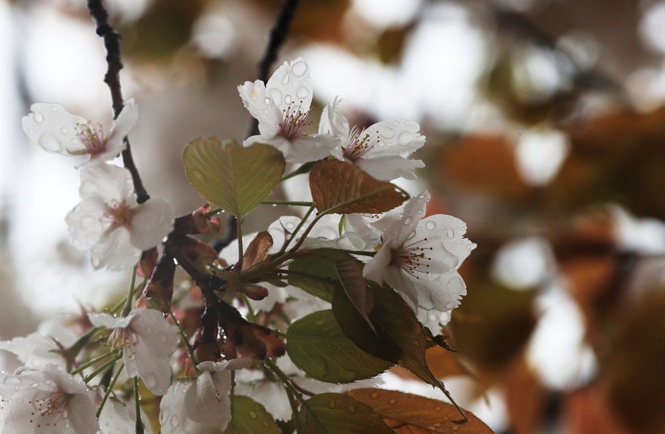
[[[80,249],[87,249],[103,238],[106,204],[100,197],[87,197],[66,215],[64,221],[69,226],[71,243]]]

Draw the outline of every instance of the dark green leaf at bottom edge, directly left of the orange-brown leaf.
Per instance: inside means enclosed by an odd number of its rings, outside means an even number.
[[[341,394],[319,394],[302,402],[298,434],[395,434],[372,407]]]

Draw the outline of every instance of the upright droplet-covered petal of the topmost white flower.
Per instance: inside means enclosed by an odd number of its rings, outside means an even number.
[[[302,58],[293,60],[291,64],[284,62],[266,83],[265,93],[280,112],[287,110],[289,104],[296,110],[300,107],[303,113],[307,112],[313,96],[309,66]]]

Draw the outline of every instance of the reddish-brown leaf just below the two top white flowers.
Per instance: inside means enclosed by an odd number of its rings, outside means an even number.
[[[309,188],[319,213],[385,213],[409,199],[394,184],[375,180],[339,160],[325,161],[312,169]]]

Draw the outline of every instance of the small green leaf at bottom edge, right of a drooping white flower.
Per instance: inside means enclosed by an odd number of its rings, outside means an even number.
[[[231,396],[231,420],[224,434],[280,434],[274,418],[249,396]]]

